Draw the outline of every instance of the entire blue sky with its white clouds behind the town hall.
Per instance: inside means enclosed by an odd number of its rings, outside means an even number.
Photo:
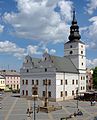
[[[64,56],[72,10],[86,44],[87,67],[97,66],[97,0],[0,0],[0,69],[17,69],[24,57]]]

